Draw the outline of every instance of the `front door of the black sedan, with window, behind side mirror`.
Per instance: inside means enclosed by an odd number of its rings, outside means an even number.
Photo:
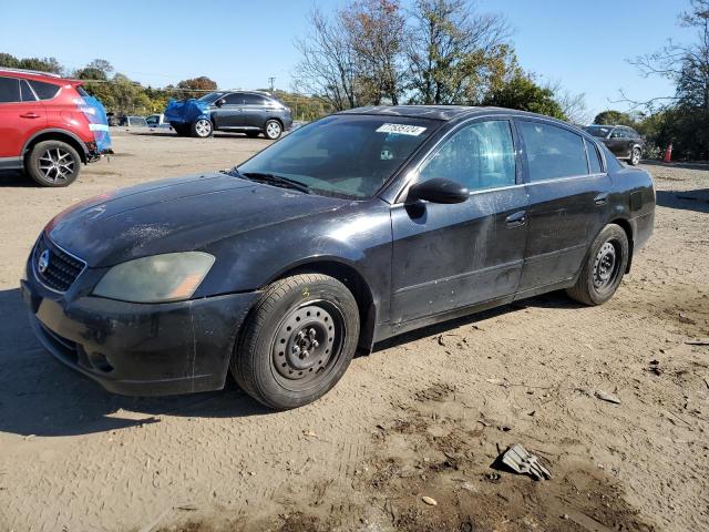
[[[459,204],[392,207],[394,327],[485,301],[512,299],[526,245],[527,194],[508,120],[469,122],[429,155],[418,183],[467,186]]]

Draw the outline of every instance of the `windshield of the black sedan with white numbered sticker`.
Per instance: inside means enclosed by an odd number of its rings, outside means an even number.
[[[400,116],[328,116],[294,131],[237,171],[246,177],[285,177],[316,193],[371,197],[440,125]]]

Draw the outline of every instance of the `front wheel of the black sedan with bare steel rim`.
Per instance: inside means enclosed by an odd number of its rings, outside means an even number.
[[[301,407],[340,380],[358,337],[357,301],[342,283],[321,274],[286,277],[269,285],[249,313],[232,375],[267,407]]]

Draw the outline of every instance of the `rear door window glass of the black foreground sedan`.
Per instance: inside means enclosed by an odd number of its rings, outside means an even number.
[[[580,135],[541,122],[520,121],[530,168],[530,181],[588,174]]]

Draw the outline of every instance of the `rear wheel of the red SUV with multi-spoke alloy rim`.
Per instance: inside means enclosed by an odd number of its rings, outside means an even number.
[[[65,142],[38,142],[27,156],[25,170],[42,186],[69,186],[81,173],[81,157]]]

